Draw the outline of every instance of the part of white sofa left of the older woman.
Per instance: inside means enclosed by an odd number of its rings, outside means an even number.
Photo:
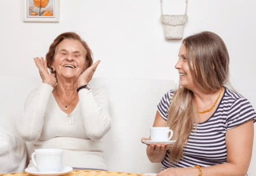
[[[20,115],[30,86],[29,78],[0,76],[0,173],[23,172],[27,165],[25,142],[16,135],[16,116]]]

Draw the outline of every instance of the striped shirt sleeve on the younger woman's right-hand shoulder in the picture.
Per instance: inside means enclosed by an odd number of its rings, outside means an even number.
[[[229,109],[226,120],[226,129],[235,128],[248,120],[256,120],[256,112],[251,103],[245,99],[237,99]]]

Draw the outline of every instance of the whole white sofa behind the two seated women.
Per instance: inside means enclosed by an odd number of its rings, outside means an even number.
[[[15,117],[19,116],[28,93],[39,87],[39,77],[0,76],[0,173],[21,172],[31,150],[15,135]],[[170,80],[129,78],[93,78],[93,87],[109,94],[112,128],[104,137],[105,160],[109,170],[133,173],[157,173],[160,163],[150,163],[141,137],[149,136],[157,103],[169,89]],[[255,141],[254,141],[255,143]],[[28,152],[27,152],[28,148]],[[249,175],[256,173],[253,153]]]

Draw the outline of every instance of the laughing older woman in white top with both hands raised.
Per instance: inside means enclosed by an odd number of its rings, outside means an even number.
[[[111,126],[108,96],[88,84],[100,61],[92,64],[87,43],[73,32],[54,40],[46,60],[34,60],[42,84],[25,102],[20,136],[33,149],[64,149],[63,165],[107,170],[100,139]]]

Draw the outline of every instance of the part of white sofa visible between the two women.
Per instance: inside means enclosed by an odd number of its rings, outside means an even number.
[[[150,163],[141,137],[149,137],[157,104],[169,90],[170,80],[129,78],[97,79],[91,84],[109,93],[112,128],[104,138],[105,158],[112,171],[158,173],[161,164]]]

